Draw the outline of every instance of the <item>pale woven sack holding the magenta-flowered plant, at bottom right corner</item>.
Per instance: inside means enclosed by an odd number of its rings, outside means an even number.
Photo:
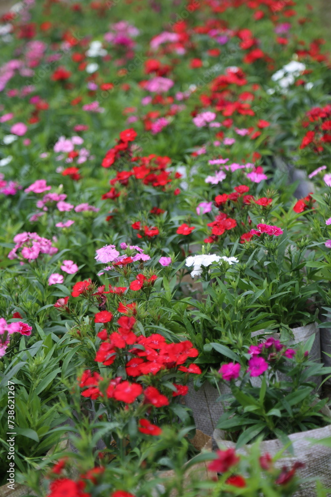
[[[328,407],[324,407],[321,412],[328,415],[331,421],[331,412]],[[331,447],[317,445],[308,440],[323,440],[330,436],[331,425],[289,435],[294,455],[291,455],[287,450],[284,451],[283,456],[276,461],[275,466],[277,468],[289,467],[295,461],[300,461],[305,464],[305,467],[298,470],[298,474],[303,478],[312,479],[312,481],[305,482],[302,489],[295,493],[293,497],[316,497],[315,482],[317,480],[322,482],[325,487],[331,488]],[[221,448],[236,448],[234,442],[225,440],[225,431],[223,430],[215,429],[213,438]],[[248,454],[250,448],[251,445],[244,445],[236,451],[239,454]],[[268,452],[272,457],[282,448],[283,444],[278,438],[265,440],[260,445],[261,454]]]

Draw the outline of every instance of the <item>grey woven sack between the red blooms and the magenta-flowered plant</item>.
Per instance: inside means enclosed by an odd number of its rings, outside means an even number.
[[[231,394],[227,385],[218,384],[221,396]],[[224,413],[223,405],[216,387],[205,381],[199,390],[195,390],[193,382],[189,382],[189,392],[185,396],[185,404],[193,412],[196,427],[208,436],[212,436],[219,418]]]

